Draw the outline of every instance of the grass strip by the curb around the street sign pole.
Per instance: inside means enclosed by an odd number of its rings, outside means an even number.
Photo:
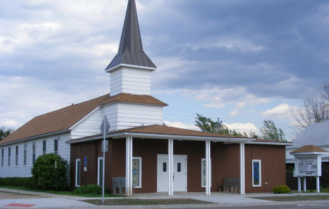
[[[198,201],[190,198],[180,199],[136,199],[136,198],[122,198],[122,199],[107,199],[102,204],[102,200],[87,200],[86,203],[94,205],[186,205],[186,204],[212,204],[211,202]]]

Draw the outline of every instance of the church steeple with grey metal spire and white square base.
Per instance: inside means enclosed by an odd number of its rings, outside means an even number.
[[[150,73],[155,69],[143,51],[135,0],[129,0],[118,53],[105,69],[111,78],[110,95],[150,95]]]

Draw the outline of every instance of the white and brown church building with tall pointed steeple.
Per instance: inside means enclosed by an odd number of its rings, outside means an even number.
[[[68,162],[72,189],[101,185],[104,160],[105,187],[113,192],[113,183],[123,180],[126,196],[210,195],[219,189],[245,194],[285,184],[288,143],[166,126],[162,110],[168,104],[151,95],[156,69],[143,50],[135,0],[129,0],[118,53],[105,69],[110,93],[34,117],[15,130],[0,142],[0,177],[29,177],[37,157],[53,152]],[[105,159],[99,128],[104,116],[110,123]]]

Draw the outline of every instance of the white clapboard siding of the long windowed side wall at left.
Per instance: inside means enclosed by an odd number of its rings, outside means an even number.
[[[9,144],[7,146],[1,146],[0,154],[2,149],[4,149],[4,166],[1,167],[0,161],[0,177],[31,177],[33,142],[35,142],[35,159],[37,159],[38,156],[42,154],[42,144],[44,140],[46,140],[46,153],[53,153],[53,140],[55,140],[58,136],[60,137],[60,139],[58,140],[58,155],[60,155],[63,159],[65,159],[65,161],[67,161],[67,177],[70,177],[70,144],[65,143],[67,140],[70,140],[70,133],[39,137],[34,140],[28,140],[25,142],[17,142],[14,144]],[[24,165],[24,144],[27,144],[26,165]],[[18,146],[18,166],[15,166],[16,146]],[[11,147],[11,166],[8,166],[8,147]]]

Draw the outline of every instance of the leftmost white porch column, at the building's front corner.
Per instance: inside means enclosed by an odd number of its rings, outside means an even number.
[[[126,196],[132,196],[132,137],[126,137]]]

